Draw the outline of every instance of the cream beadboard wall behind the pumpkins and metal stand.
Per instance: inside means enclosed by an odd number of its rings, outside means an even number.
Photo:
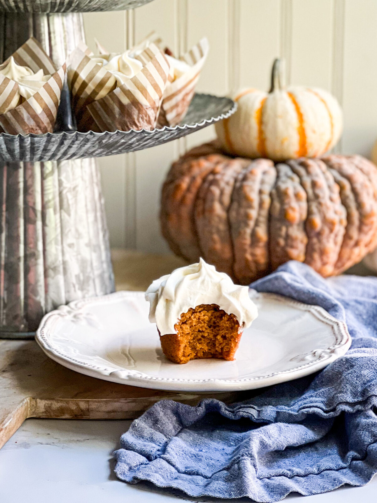
[[[84,14],[88,45],[96,37],[123,51],[158,31],[180,54],[203,35],[210,54],[198,91],[226,95],[268,89],[276,56],[287,81],[323,87],[339,100],[344,133],[336,151],[368,156],[377,137],[376,0],[154,0],[134,11]],[[159,191],[170,162],[214,137],[209,127],[141,152],[99,159],[111,245],[162,253]]]

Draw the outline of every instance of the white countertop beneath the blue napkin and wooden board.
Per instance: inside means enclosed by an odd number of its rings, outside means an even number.
[[[201,501],[151,484],[126,484],[113,472],[113,451],[130,421],[28,419],[0,450],[1,503],[168,503]],[[343,487],[303,503],[376,500],[377,477],[364,487]],[[299,498],[299,499],[297,499]],[[301,500],[298,495],[286,500]],[[232,500],[249,502],[247,498]]]

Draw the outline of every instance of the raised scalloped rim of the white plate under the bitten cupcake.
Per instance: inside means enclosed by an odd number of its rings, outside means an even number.
[[[255,291],[252,290],[252,292],[254,293]],[[294,369],[271,373],[259,377],[243,379],[161,378],[156,376],[149,376],[147,374],[141,373],[140,371],[135,371],[132,369],[124,369],[122,367],[119,367],[119,370],[117,371],[114,371],[114,369],[109,371],[109,369],[106,369],[105,365],[98,366],[88,364],[83,361],[78,362],[70,355],[64,355],[54,348],[53,344],[51,343],[51,337],[49,337],[49,330],[52,328],[54,323],[56,323],[57,319],[67,315],[72,315],[72,313],[80,313],[87,305],[94,305],[96,303],[103,304],[104,302],[117,302],[119,298],[144,297],[144,292],[134,291],[120,291],[101,297],[75,300],[73,302],[70,302],[66,306],[61,306],[58,309],[47,313],[42,319],[41,324],[36,332],[36,341],[42,348],[42,350],[46,353],[46,355],[49,356],[52,360],[76,372],[121,384],[150,389],[161,389],[166,391],[186,392],[241,391],[262,388],[280,382],[290,381],[299,377],[307,376],[323,369],[329,363],[344,355],[351,345],[351,337],[346,324],[340,320],[335,319],[322,307],[304,304],[288,297],[272,293],[255,292],[254,295],[258,297],[259,301],[263,301],[263,299],[273,299],[296,307],[299,310],[310,311],[319,321],[331,325],[337,344],[333,347],[330,346],[328,350],[322,350],[323,353],[326,353],[326,351],[328,351],[327,355],[319,356],[318,359],[307,362],[303,365],[298,365]]]

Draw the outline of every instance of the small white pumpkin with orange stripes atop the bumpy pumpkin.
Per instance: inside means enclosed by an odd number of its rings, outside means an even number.
[[[273,63],[269,93],[245,89],[233,99],[235,114],[216,124],[222,147],[233,155],[274,161],[316,157],[330,150],[342,133],[336,99],[322,89],[286,89],[280,59]]]

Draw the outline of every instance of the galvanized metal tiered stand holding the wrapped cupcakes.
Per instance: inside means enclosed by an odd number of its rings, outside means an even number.
[[[0,0],[0,59],[34,36],[61,65],[84,40],[80,13],[150,1]],[[234,110],[229,99],[197,95],[185,124],[175,128],[77,133],[65,89],[57,132],[0,134],[0,338],[32,338],[46,312],[114,291],[99,169],[85,157],[170,141]]]

